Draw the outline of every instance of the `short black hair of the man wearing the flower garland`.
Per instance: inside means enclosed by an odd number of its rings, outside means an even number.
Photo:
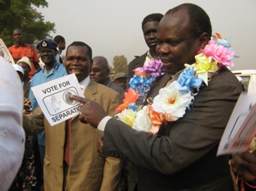
[[[188,10],[189,16],[189,25],[188,30],[192,33],[193,37],[200,36],[203,32],[208,33],[208,37],[212,37],[212,24],[208,14],[203,10],[202,7],[195,5],[193,3],[183,3],[178,5],[177,7],[173,7],[172,9],[166,12],[166,15],[172,14],[173,12],[177,12],[178,10],[185,8]]]

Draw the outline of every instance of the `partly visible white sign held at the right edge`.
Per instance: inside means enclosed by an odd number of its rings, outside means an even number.
[[[256,95],[242,93],[228,120],[217,155],[243,152],[256,134]]]

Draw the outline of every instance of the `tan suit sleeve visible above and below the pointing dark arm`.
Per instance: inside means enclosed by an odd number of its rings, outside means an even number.
[[[118,92],[114,92],[114,95],[111,96],[110,104],[108,107],[108,115],[113,116],[114,110],[121,103],[120,95]],[[103,172],[103,182],[101,185],[101,191],[105,190],[117,190],[118,182],[120,179],[122,169],[122,160],[114,157],[106,157],[104,164],[104,172]]]

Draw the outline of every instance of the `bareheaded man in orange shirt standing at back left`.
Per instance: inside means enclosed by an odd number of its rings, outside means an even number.
[[[29,77],[33,76],[33,73],[36,70],[40,69],[38,64],[38,53],[32,45],[26,44],[23,40],[23,30],[21,28],[15,28],[13,30],[13,41],[14,45],[12,47],[8,47],[8,50],[11,52],[13,56],[13,60],[15,63],[18,62],[23,56],[28,56],[28,59],[31,64],[31,71],[29,73]]]

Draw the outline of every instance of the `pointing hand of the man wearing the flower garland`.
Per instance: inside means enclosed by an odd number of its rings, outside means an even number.
[[[79,120],[82,123],[88,122],[94,128],[97,128],[99,122],[103,120],[105,116],[107,116],[107,113],[105,110],[103,110],[102,106],[98,105],[98,103],[94,100],[88,100],[86,98],[73,95],[70,96],[70,99],[78,100],[83,104],[79,115]]]

